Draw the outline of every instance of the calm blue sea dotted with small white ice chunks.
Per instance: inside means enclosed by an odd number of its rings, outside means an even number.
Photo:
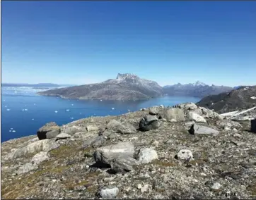
[[[120,115],[151,106],[173,106],[197,102],[199,98],[164,96],[139,101],[71,100],[39,96],[45,89],[32,87],[1,87],[1,142],[35,135],[45,123],[64,125],[89,116]]]

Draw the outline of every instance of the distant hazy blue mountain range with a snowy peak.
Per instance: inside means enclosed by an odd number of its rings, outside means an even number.
[[[195,82],[182,85],[166,85],[163,87],[163,92],[170,96],[197,96],[204,97],[211,94],[220,94],[221,92],[229,92],[233,88],[226,86],[206,85],[203,82]]]

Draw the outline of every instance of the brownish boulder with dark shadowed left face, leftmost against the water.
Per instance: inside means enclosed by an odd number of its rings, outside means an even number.
[[[60,132],[60,127],[56,123],[47,123],[37,131],[37,137],[38,139],[50,139],[59,135]]]

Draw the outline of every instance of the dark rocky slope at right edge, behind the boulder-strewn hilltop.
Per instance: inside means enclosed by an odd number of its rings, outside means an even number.
[[[217,95],[204,97],[197,103],[218,113],[227,113],[256,106],[256,86],[243,86]]]

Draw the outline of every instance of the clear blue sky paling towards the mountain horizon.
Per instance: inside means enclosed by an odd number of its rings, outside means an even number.
[[[2,82],[256,85],[256,1],[2,1]]]

